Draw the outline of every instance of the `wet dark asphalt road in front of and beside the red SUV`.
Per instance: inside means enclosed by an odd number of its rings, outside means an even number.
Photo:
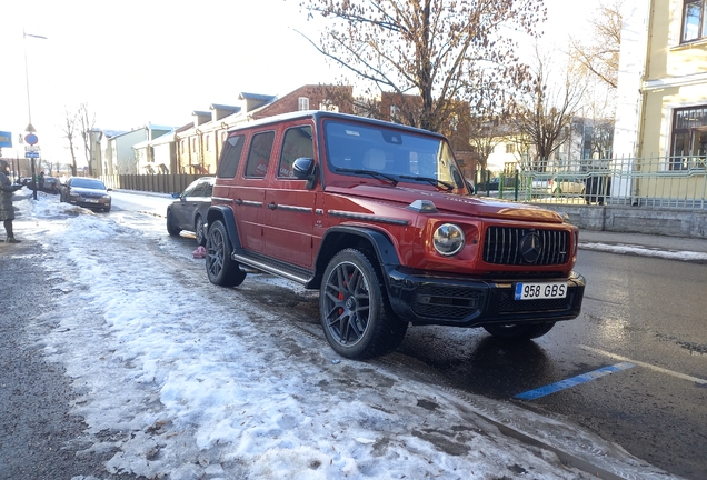
[[[544,338],[509,346],[478,329],[412,328],[400,351],[456,388],[566,416],[670,473],[707,479],[707,266],[580,250],[576,269],[588,283],[582,313]],[[634,367],[514,399],[621,362]]]

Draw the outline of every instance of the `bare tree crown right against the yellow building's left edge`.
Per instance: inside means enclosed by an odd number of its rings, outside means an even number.
[[[621,48],[621,6],[624,0],[600,2],[589,20],[594,28],[590,41],[570,38],[570,48],[579,62],[613,89],[618,82],[619,51]]]

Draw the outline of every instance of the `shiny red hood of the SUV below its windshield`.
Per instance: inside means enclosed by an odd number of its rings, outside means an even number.
[[[341,193],[349,197],[356,194],[361,198],[402,203],[405,206],[416,200],[430,200],[439,211],[464,213],[488,219],[540,221],[548,223],[564,222],[559,213],[526,203],[482,197],[457,196],[400,186],[359,184],[354,188],[330,186],[327,187],[327,192]]]

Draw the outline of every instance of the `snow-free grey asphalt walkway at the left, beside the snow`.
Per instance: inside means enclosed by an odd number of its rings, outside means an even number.
[[[82,419],[69,414],[70,379],[41,352],[41,337],[58,323],[51,297],[62,294],[51,258],[34,242],[0,243],[0,480],[133,479],[106,472],[111,451],[77,456],[91,442],[81,440]]]

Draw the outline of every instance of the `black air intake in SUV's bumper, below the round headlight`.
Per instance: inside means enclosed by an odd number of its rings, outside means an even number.
[[[420,287],[412,302],[412,311],[420,317],[458,320],[479,309],[479,290],[428,284]]]

